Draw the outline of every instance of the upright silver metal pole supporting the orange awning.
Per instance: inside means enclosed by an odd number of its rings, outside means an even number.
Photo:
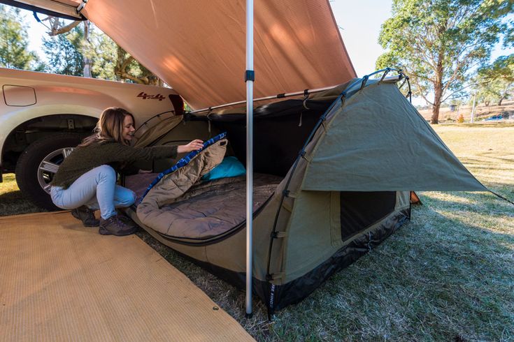
[[[246,317],[252,315],[253,223],[253,0],[246,0]]]

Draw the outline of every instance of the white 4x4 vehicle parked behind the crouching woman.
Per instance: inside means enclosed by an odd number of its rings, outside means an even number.
[[[173,89],[0,68],[0,181],[15,172],[22,193],[55,209],[48,184],[59,164],[92,134],[106,107],[134,114],[136,128],[158,114],[182,114]]]

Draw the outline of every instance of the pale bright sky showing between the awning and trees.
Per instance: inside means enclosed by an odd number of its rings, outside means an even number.
[[[376,59],[384,52],[377,43],[378,34],[380,25],[391,17],[392,0],[329,0],[329,3],[357,76],[372,73],[375,70]],[[29,49],[40,51],[41,38],[48,29],[36,22],[30,12],[23,12],[27,13],[25,17],[30,23]],[[40,17],[43,18],[45,15]],[[514,20],[514,15],[509,19]],[[511,53],[514,53],[514,49],[501,50],[500,44],[497,44],[490,61]],[[43,54],[40,56],[43,57]]]

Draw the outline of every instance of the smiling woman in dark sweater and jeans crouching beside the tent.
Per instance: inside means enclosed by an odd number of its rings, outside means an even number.
[[[176,158],[178,153],[203,147],[201,140],[181,146],[137,148],[129,146],[135,132],[134,116],[123,108],[104,110],[95,134],[86,137],[62,162],[52,179],[52,202],[71,214],[85,226],[100,226],[101,235],[129,235],[137,227],[117,214],[115,208],[129,207],[136,194],[116,184],[116,171],[122,165],[139,159]],[[100,209],[101,219],[94,218]]]

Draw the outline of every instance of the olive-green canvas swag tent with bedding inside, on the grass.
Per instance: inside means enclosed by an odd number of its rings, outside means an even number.
[[[397,80],[355,79],[307,100],[255,107],[252,289],[270,312],[299,302],[406,223],[412,190],[486,190]],[[126,185],[144,196],[129,214],[163,244],[243,288],[244,177],[201,176],[226,154],[244,162],[245,108],[194,115],[162,140],[208,126],[213,139],[201,152],[158,177],[128,177]]]

